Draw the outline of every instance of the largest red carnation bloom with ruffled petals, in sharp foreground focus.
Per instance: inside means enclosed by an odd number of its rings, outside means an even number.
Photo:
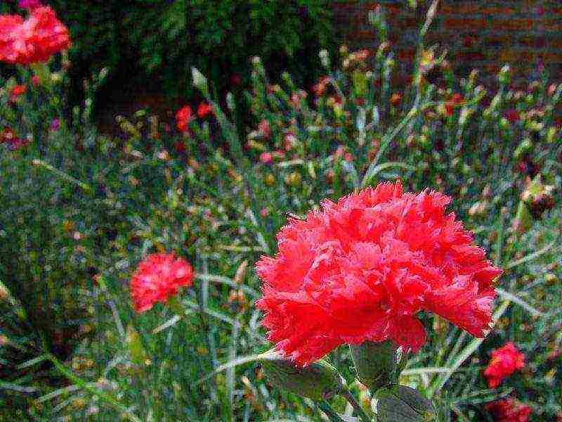
[[[256,264],[269,340],[303,366],[365,340],[417,351],[426,339],[421,309],[483,337],[502,271],[454,213],[444,214],[450,200],[403,193],[398,181],[291,219],[277,255]]]

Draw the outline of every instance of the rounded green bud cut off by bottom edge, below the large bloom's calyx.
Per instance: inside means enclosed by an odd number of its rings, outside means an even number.
[[[392,385],[375,394],[379,422],[431,422],[437,420],[436,410],[429,399],[413,388]]]

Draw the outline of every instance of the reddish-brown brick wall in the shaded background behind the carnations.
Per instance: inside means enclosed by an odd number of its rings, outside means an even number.
[[[405,0],[334,1],[336,30],[353,49],[374,49],[377,34],[367,22],[370,9],[386,11],[389,38],[396,53],[398,79],[410,70],[424,7],[412,11]],[[419,1],[424,3],[424,1]],[[427,1],[429,3],[429,0]],[[457,75],[481,70],[488,82],[505,63],[514,69],[514,86],[536,78],[540,63],[551,79],[562,82],[562,0],[441,0],[426,45],[439,44]]]

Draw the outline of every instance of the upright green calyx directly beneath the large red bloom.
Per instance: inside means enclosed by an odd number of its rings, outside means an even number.
[[[396,377],[396,350],[398,349],[393,342],[365,341],[360,345],[350,345],[349,348],[357,378],[369,390],[375,392],[393,383]]]

